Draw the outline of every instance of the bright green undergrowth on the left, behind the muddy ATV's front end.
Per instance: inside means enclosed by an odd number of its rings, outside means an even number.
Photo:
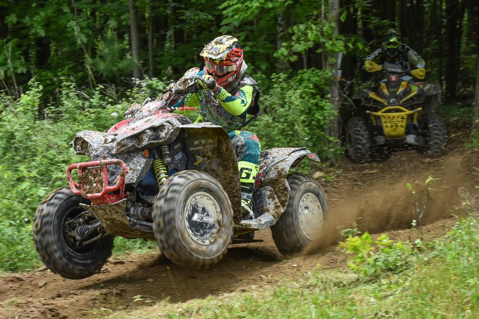
[[[31,229],[33,214],[43,197],[66,185],[67,165],[87,160],[73,153],[69,143],[83,129],[106,131],[123,118],[133,101],[155,96],[165,83],[147,79],[119,101],[99,86],[93,96],[63,82],[60,102],[38,114],[42,86],[32,80],[30,90],[14,100],[0,95],[0,270],[29,269],[38,264]],[[43,119],[45,117],[46,119]],[[141,241],[116,240],[115,251],[145,248]],[[156,243],[149,243],[148,247]]]

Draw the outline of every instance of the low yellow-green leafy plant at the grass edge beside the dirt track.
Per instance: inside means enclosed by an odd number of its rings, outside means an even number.
[[[354,254],[349,261],[349,269],[368,277],[403,271],[409,266],[414,253],[409,243],[395,243],[386,234],[373,241],[368,232],[362,236],[349,236],[339,243],[339,247],[343,252]]]

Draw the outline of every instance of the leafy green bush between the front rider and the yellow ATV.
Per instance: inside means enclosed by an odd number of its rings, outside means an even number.
[[[258,134],[265,149],[301,146],[326,159],[337,156],[339,150],[328,148],[333,139],[325,133],[334,118],[332,105],[319,93],[326,91],[324,79],[329,77],[328,71],[317,69],[299,71],[293,79],[272,75],[275,85],[261,96],[264,113],[247,129]]]

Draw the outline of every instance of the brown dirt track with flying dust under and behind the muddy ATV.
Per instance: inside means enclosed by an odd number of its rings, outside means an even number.
[[[460,146],[452,149],[436,160],[401,152],[378,164],[345,162],[343,173],[334,183],[321,183],[328,195],[330,224],[323,236],[308,247],[307,255],[283,260],[269,230],[265,230],[257,234],[264,242],[232,245],[218,265],[206,270],[182,270],[161,260],[159,254],[112,258],[101,274],[78,281],[62,279],[42,267],[0,277],[0,317],[91,317],[94,308],[119,310],[140,305],[133,302],[136,295],[179,302],[250,290],[252,285],[272,285],[318,264],[323,268],[344,267],[347,256],[329,245],[340,239],[339,231],[354,221],[371,233],[396,229],[388,232],[393,239],[416,236],[415,230],[399,230],[408,228],[414,219],[413,197],[406,182],[418,189],[422,199],[422,184],[427,176],[437,179],[432,183],[426,223],[451,215],[460,203],[459,187],[474,191],[474,186],[479,185],[478,171],[473,168],[479,167],[479,152],[464,151]],[[425,234],[443,235],[453,222],[449,218],[429,224]]]

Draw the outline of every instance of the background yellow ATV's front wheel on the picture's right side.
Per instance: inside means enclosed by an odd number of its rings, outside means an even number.
[[[429,114],[427,119],[426,156],[435,158],[443,155],[449,142],[448,129],[441,116]]]

